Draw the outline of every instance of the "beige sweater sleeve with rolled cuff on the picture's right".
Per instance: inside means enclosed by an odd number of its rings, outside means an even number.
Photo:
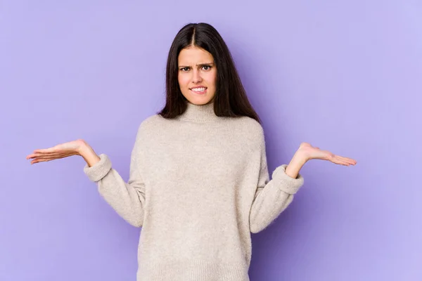
[[[260,173],[255,197],[250,209],[250,232],[259,233],[267,228],[293,201],[296,192],[302,187],[304,178],[298,174],[292,178],[286,174],[287,164],[278,166],[269,178],[265,142],[262,135],[260,145]]]

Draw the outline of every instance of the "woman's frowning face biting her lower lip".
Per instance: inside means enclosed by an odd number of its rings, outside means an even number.
[[[205,105],[215,96],[217,68],[211,53],[189,46],[179,53],[178,75],[180,91],[195,105]]]

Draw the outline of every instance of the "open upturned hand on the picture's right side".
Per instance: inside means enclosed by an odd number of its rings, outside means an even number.
[[[310,143],[301,143],[298,149],[298,153],[305,157],[306,161],[310,159],[321,159],[328,160],[334,164],[340,164],[344,166],[356,165],[356,160],[335,155],[328,150],[320,150],[319,148],[313,147]]]

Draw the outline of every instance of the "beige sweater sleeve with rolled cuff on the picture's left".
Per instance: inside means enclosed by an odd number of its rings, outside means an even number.
[[[141,172],[136,163],[136,150],[139,136],[132,149],[129,167],[129,180],[125,182],[120,174],[113,169],[106,154],[99,155],[100,161],[93,166],[84,166],[84,173],[90,181],[98,186],[100,195],[125,221],[132,226],[141,227],[143,224],[143,209],[145,206],[145,185]]]

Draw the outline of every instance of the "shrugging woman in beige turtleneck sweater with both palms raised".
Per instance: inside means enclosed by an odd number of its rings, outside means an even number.
[[[301,143],[270,181],[260,120],[211,25],[178,32],[166,86],[165,107],[139,126],[127,183],[107,155],[80,139],[34,150],[27,159],[85,159],[84,172],[108,204],[142,227],[137,280],[249,280],[250,233],[292,202],[304,182],[301,167],[309,159],[356,161]]]

